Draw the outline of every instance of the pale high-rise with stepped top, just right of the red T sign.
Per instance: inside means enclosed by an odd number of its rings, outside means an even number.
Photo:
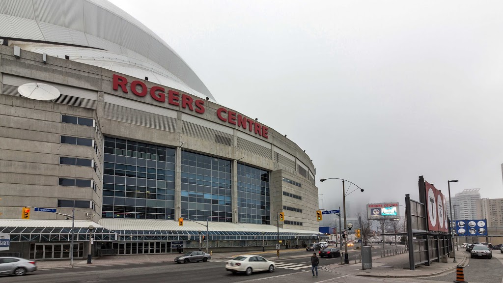
[[[480,200],[480,189],[465,189],[452,197],[452,211],[454,220],[477,219],[477,200]],[[458,205],[454,207],[454,205]],[[447,215],[451,218],[449,201],[447,201]]]

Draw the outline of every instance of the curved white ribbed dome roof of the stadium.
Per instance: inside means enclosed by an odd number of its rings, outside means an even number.
[[[0,0],[0,35],[24,50],[147,77],[215,102],[169,45],[108,1]]]

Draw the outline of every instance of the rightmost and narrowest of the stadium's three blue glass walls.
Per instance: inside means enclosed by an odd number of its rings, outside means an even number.
[[[237,221],[271,224],[269,171],[237,164]]]

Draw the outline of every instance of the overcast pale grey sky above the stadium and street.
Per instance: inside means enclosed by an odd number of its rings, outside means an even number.
[[[503,197],[500,1],[112,2],[220,104],[305,149],[317,180],[364,188],[353,207],[418,199],[419,175]],[[342,195],[317,186],[325,206]]]

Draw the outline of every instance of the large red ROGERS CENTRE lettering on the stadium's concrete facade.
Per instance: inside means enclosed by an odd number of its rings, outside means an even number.
[[[128,92],[128,87],[127,87],[127,79],[115,75],[113,76],[113,89],[114,90],[119,90],[121,88],[123,93],[129,93]],[[139,90],[138,90],[139,89]],[[202,99],[196,99],[194,100],[192,96],[182,94],[180,96],[180,93],[174,90],[167,90],[167,95],[166,95],[166,90],[162,87],[151,87],[150,91],[148,90],[147,86],[142,82],[142,81],[132,81],[131,82],[131,88],[129,89],[134,95],[144,97],[147,94],[150,94],[150,96],[155,100],[160,103],[166,103],[166,97],[167,97],[167,104],[174,105],[174,106],[182,106],[184,109],[189,109],[191,111],[194,111],[199,114],[203,114],[205,109],[204,109],[204,100]],[[226,114],[225,116],[222,114]],[[261,125],[259,122],[249,119],[245,116],[242,116],[241,114],[238,114],[232,110],[228,110],[226,108],[218,108],[217,109],[217,116],[220,120],[227,122],[232,125],[237,125],[238,127],[241,127],[243,129],[248,129],[250,132],[254,132],[255,134],[258,134],[260,136],[263,136],[265,138],[269,138],[268,131],[269,128]]]

